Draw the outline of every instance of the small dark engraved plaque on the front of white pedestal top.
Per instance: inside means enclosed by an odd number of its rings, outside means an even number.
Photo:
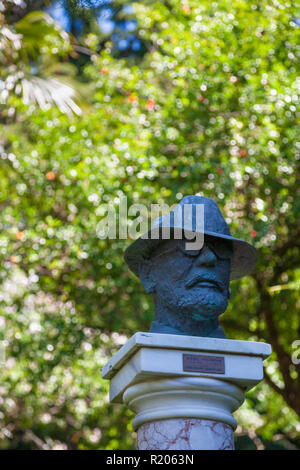
[[[183,354],[182,363],[185,372],[225,374],[224,357],[205,356],[203,354]]]

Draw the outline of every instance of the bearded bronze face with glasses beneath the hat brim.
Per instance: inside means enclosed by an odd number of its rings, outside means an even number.
[[[141,269],[141,280],[154,294],[158,321],[193,329],[227,308],[232,248],[229,241],[208,236],[201,250],[187,251],[185,244],[160,244]]]

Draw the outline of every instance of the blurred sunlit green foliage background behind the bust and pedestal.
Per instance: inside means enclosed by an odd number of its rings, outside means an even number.
[[[189,194],[259,254],[221,317],[273,349],[236,448],[300,448],[299,27],[286,0],[0,0],[1,449],[135,448],[101,367],[153,306],[96,226]]]

